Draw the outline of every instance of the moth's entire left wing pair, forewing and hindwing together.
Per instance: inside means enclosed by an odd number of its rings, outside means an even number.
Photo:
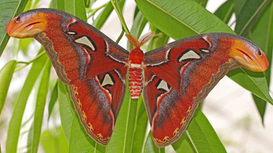
[[[107,144],[123,101],[128,52],[82,20],[54,9],[22,13],[7,26],[17,38],[34,37],[45,48],[86,132]]]

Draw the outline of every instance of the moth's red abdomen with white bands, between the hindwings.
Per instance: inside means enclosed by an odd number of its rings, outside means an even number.
[[[142,85],[142,69],[138,67],[129,68],[129,90],[132,99],[138,99],[140,97]]]

